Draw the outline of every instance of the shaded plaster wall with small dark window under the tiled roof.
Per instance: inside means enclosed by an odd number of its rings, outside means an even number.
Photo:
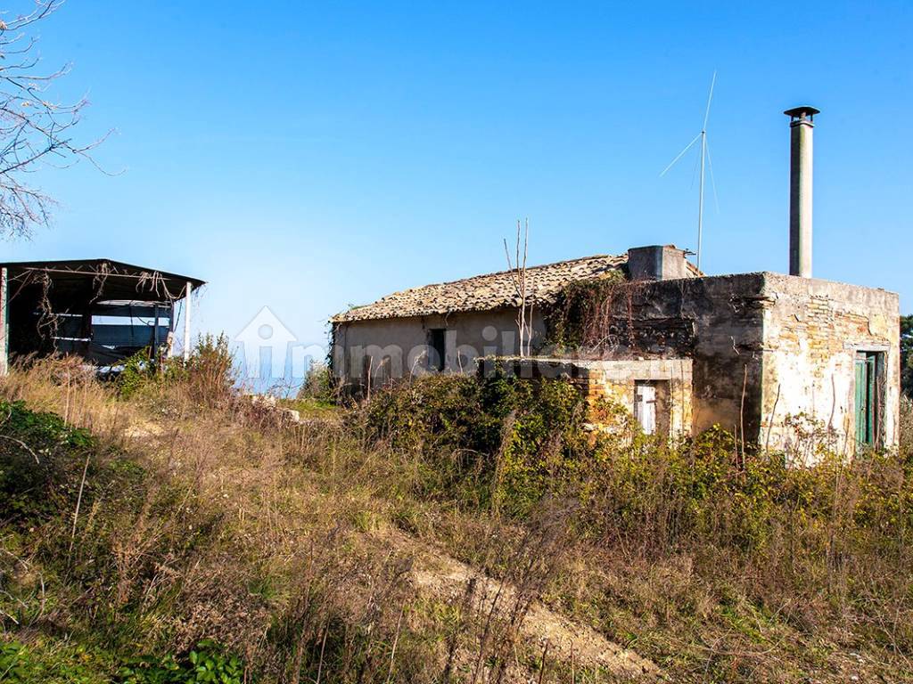
[[[534,313],[533,343],[540,343],[545,325]],[[333,330],[333,372],[345,384],[362,384],[366,356],[372,358],[373,385],[390,378],[428,371],[429,331],[446,328],[446,372],[472,373],[482,356],[519,353],[517,312],[467,312],[449,316],[415,316],[341,323]]]

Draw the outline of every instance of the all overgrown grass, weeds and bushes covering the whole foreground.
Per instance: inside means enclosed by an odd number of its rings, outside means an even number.
[[[561,381],[430,377],[289,424],[226,358],[0,385],[0,678],[628,677],[585,627],[675,681],[913,680],[909,404],[900,451],[786,468],[608,405],[589,430]]]

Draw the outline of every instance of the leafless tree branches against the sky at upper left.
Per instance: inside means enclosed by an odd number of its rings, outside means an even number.
[[[70,67],[50,72],[39,67],[37,37],[30,34],[63,1],[36,0],[26,15],[0,16],[0,236],[27,236],[47,223],[53,201],[26,181],[29,173],[80,159],[94,164],[89,152],[104,140],[74,142],[73,129],[88,100],[66,104],[49,98],[49,88]]]

